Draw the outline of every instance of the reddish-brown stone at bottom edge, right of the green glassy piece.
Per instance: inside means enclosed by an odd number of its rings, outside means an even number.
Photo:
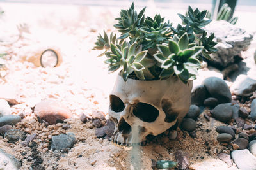
[[[179,169],[188,169],[190,162],[189,162],[189,155],[187,152],[178,150],[174,153],[175,159],[178,162]]]

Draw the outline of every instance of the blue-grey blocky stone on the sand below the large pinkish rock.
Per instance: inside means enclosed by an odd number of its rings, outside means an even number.
[[[63,150],[67,148],[72,148],[75,142],[76,142],[76,138],[73,133],[52,136],[51,149]]]

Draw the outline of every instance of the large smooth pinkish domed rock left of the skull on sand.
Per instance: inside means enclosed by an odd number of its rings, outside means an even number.
[[[72,112],[65,105],[53,99],[44,100],[36,104],[34,112],[39,118],[42,118],[42,120],[45,120],[50,125],[72,116]]]

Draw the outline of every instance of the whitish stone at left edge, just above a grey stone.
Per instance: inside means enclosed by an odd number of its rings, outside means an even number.
[[[10,104],[20,103],[19,92],[12,85],[0,85],[0,99],[8,101]]]

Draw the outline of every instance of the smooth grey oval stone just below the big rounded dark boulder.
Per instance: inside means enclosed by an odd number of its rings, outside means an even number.
[[[212,116],[221,122],[228,122],[232,118],[231,103],[218,104],[212,110]]]

